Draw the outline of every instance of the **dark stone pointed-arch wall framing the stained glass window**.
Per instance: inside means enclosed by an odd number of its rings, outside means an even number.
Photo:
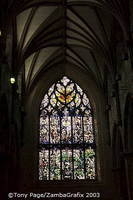
[[[60,70],[61,68],[62,70]],[[105,155],[104,148],[107,145],[106,141],[108,139],[106,134],[106,117],[104,115],[105,104],[103,100],[103,93],[89,74],[77,69],[77,67],[72,64],[62,64],[46,71],[44,75],[41,76],[38,83],[32,87],[33,89],[31,93],[28,93],[28,96],[26,97],[25,110],[27,115],[24,122],[24,147],[21,160],[24,165],[22,170],[22,182],[25,183],[25,187],[28,187],[29,182],[31,188],[34,187],[34,184],[37,184],[37,188],[41,187],[44,189],[46,187],[46,184],[40,183],[38,180],[39,109],[42,98],[48,88],[50,88],[53,83],[61,79],[64,75],[74,80],[88,95],[96,113],[95,119],[98,130],[98,132],[96,132],[98,180],[91,184],[89,182],[73,180],[70,185],[67,185],[66,188],[71,188],[73,184],[77,184],[77,187],[80,185],[81,188],[83,185],[85,188],[91,188],[94,186],[102,188],[102,183],[106,184],[106,181],[109,181],[110,179],[108,176],[108,170],[110,170],[111,166],[110,161],[106,162],[106,159],[110,156],[110,152],[107,148]],[[27,161],[27,159],[29,159],[29,161]],[[48,184],[51,184],[51,190],[55,188],[55,185],[52,185],[52,183],[47,183],[47,186]],[[60,189],[62,187],[63,184],[60,185]],[[76,187],[76,185],[74,187]]]

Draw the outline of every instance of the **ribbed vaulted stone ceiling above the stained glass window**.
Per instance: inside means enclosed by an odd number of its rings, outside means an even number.
[[[114,72],[114,20],[128,39],[126,9],[126,0],[8,1],[15,13],[15,73],[25,73],[29,89],[42,71],[67,62],[91,73],[102,87],[105,66]]]

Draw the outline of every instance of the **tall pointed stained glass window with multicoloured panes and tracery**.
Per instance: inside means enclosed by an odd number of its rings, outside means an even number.
[[[39,180],[96,179],[93,110],[84,91],[64,76],[40,105]]]

